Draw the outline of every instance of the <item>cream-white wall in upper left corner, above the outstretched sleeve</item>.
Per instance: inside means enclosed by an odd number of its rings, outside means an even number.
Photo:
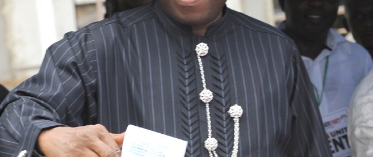
[[[0,0],[0,21],[0,83],[8,88],[35,74],[46,48],[76,30],[73,0]]]

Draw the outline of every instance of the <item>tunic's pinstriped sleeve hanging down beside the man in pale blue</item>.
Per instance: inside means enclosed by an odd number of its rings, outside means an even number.
[[[287,156],[332,156],[312,85],[295,47],[288,74],[292,128]]]

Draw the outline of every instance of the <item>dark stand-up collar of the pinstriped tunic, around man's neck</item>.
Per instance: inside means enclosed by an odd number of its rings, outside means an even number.
[[[164,29],[166,31],[173,31],[177,34],[184,34],[184,35],[190,35],[195,36],[192,33],[191,26],[184,25],[179,23],[178,21],[174,20],[172,17],[170,17],[162,8],[161,4],[158,0],[154,1],[154,11],[156,15],[159,17]],[[230,15],[231,10],[226,7],[226,5],[223,8],[223,16],[212,23],[206,30],[205,37],[213,36],[216,34],[219,34],[223,31],[224,26],[227,23],[228,16]]]

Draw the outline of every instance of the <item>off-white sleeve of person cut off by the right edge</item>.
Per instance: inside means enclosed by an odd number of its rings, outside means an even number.
[[[359,83],[348,113],[348,139],[352,156],[373,155],[373,71]]]

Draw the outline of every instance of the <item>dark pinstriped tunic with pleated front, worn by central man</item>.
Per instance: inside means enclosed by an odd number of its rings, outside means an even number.
[[[195,36],[158,1],[69,32],[47,51],[39,73],[1,104],[0,156],[33,151],[40,130],[103,124],[141,126],[188,141],[186,156],[208,156],[205,105],[195,46],[202,58],[219,156],[232,153],[240,104],[239,156],[331,156],[307,72],[292,41],[226,8],[206,36]],[[33,152],[33,153],[32,153]]]

